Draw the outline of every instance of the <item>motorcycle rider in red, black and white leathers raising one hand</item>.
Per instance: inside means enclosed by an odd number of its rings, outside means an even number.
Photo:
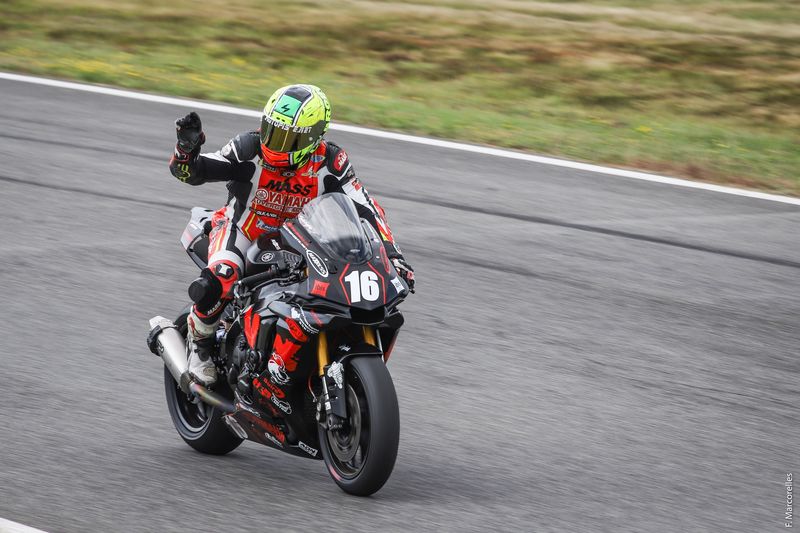
[[[344,150],[323,139],[330,118],[328,98],[318,87],[289,85],[267,101],[260,130],[240,133],[214,153],[200,153],[205,134],[197,113],[175,121],[172,175],[190,185],[225,181],[228,188],[227,204],[212,217],[208,267],[201,276],[206,282],[200,293],[192,294],[195,305],[188,318],[189,372],[206,386],[217,379],[210,357],[217,324],[233,296],[233,284],[243,275],[247,248],[296,217],[317,196],[343,192],[354,200],[359,215],[381,236],[398,274],[414,288],[413,269],[394,242],[383,208],[356,178]],[[285,413],[288,404],[281,398],[297,373],[295,355],[307,341],[297,324],[278,321],[268,364],[271,383],[258,390]]]

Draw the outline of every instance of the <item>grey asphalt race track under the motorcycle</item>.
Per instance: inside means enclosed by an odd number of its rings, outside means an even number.
[[[0,517],[83,531],[771,531],[800,467],[800,208],[335,132],[418,292],[371,498],[316,461],[188,448],[147,320],[222,184],[185,109],[0,81]],[[334,102],[335,104],[335,102]],[[335,112],[335,109],[334,109]],[[255,127],[202,113],[208,147]]]

